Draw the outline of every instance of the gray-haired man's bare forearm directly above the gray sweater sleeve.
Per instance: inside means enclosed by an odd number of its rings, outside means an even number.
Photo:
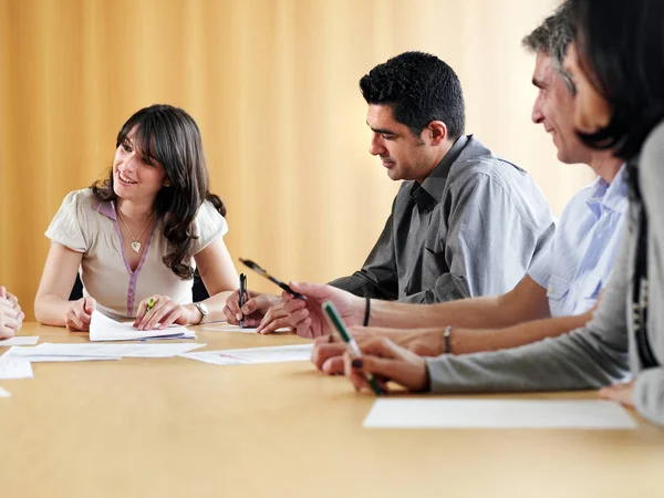
[[[574,329],[582,328],[592,319],[592,312],[577,317],[560,317],[535,320],[507,329],[452,331],[450,350],[453,354],[469,354],[480,351],[499,351],[518,347],[546,338],[556,338]]]

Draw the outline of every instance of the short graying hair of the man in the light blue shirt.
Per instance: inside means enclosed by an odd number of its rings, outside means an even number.
[[[571,6],[569,1],[564,1],[553,14],[544,19],[532,33],[521,41],[526,49],[535,53],[543,52],[551,58],[553,69],[563,76],[572,93],[575,93],[575,87],[562,63],[568,46],[574,40],[574,31]]]

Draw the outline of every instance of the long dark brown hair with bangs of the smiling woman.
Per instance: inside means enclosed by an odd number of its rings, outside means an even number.
[[[152,105],[138,111],[122,126],[115,147],[132,132],[134,148],[147,163],[160,163],[169,183],[157,193],[154,201],[155,216],[163,221],[164,237],[168,241],[163,261],[179,278],[190,279],[194,274],[191,239],[197,238],[193,231],[198,208],[209,200],[221,216],[226,215],[221,199],[209,191],[200,131],[181,108]],[[113,189],[113,168],[106,179],[92,185],[92,191],[101,201],[117,199]]]

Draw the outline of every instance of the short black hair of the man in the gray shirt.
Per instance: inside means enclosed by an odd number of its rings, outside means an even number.
[[[435,55],[405,52],[376,65],[360,80],[367,104],[390,105],[394,118],[419,136],[442,121],[456,139],[466,126],[464,93],[453,69]]]

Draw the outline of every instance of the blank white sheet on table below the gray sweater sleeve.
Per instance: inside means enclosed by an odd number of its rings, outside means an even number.
[[[620,405],[601,400],[376,400],[367,428],[634,429]]]

